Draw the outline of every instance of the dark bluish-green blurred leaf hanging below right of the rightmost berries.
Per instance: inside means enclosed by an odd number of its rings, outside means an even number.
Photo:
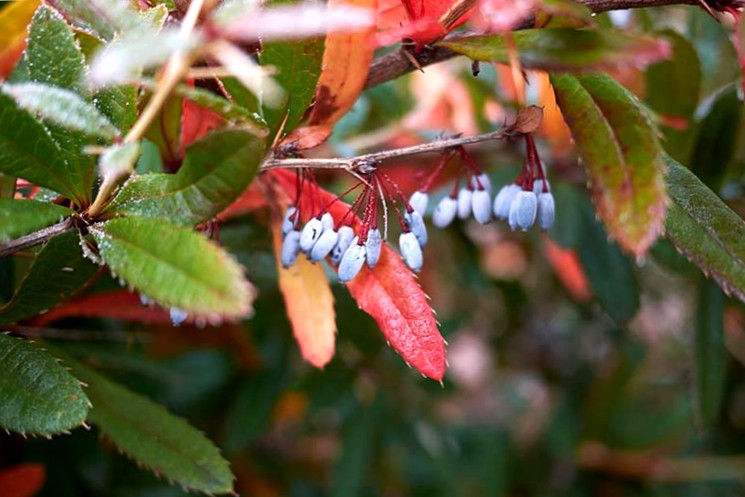
[[[608,241],[587,201],[582,201],[581,235],[577,247],[592,293],[605,311],[623,325],[639,309],[639,284],[631,261]]]

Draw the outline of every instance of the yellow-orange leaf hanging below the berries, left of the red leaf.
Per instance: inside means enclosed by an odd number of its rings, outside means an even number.
[[[305,360],[322,368],[334,356],[334,296],[320,264],[312,264],[305,257],[298,257],[292,267],[282,267],[279,258],[282,247],[280,224],[276,217],[272,220],[279,289],[285,299],[287,317]]]

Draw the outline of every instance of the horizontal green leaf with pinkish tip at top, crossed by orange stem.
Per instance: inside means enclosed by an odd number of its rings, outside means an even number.
[[[524,67],[551,71],[576,71],[634,66],[669,56],[666,42],[650,36],[592,29],[526,29],[512,33]],[[509,63],[503,36],[465,36],[439,42],[473,60]]]

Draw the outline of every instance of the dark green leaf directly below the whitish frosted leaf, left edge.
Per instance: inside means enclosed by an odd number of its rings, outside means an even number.
[[[0,172],[55,190],[83,205],[88,198],[80,171],[31,114],[0,92]]]

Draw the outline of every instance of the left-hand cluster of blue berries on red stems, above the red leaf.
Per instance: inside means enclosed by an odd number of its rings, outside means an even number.
[[[282,220],[280,260],[285,268],[292,266],[303,253],[313,263],[328,257],[332,265],[338,266],[339,280],[345,283],[357,276],[365,264],[373,269],[380,259],[382,244],[386,243],[389,204],[401,228],[401,257],[412,270],[419,271],[422,268],[422,247],[427,243],[424,219],[406,201],[398,185],[375,164],[359,169],[363,181],[333,201],[339,201],[352,191],[362,188],[362,193],[341,219],[334,219],[329,212],[333,202],[320,209],[304,204],[300,195],[303,182],[314,183],[315,179],[309,171],[298,174],[296,202],[287,209]],[[315,215],[301,227],[303,209],[310,209]],[[379,224],[381,213],[382,231]],[[358,219],[361,219],[360,223],[357,222]],[[358,225],[356,229],[355,225]]]

